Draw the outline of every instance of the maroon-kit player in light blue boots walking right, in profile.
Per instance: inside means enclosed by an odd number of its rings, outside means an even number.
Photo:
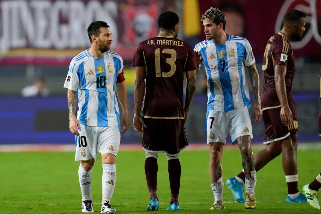
[[[305,15],[291,10],[284,15],[283,28],[267,42],[263,58],[262,111],[265,149],[255,155],[256,171],[282,153],[282,166],[288,186],[287,203],[307,202],[298,189],[297,147],[298,114],[291,93],[295,59],[290,41],[300,41],[305,31]],[[236,201],[243,199],[245,174],[227,183]]]

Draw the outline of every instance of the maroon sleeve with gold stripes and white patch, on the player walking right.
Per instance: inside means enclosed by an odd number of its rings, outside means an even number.
[[[274,65],[279,64],[286,67],[288,65],[289,44],[285,41],[285,39],[283,39],[282,41],[273,41],[272,45],[273,47],[271,47],[271,54],[274,59]]]

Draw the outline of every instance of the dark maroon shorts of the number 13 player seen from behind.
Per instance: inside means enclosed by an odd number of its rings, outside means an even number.
[[[143,118],[143,148],[148,152],[167,152],[176,155],[187,145],[185,123],[182,119]]]

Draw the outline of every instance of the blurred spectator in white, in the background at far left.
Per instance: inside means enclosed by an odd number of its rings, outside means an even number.
[[[21,91],[22,97],[47,97],[49,90],[46,88],[46,81],[43,77],[37,78],[33,85],[24,87]]]

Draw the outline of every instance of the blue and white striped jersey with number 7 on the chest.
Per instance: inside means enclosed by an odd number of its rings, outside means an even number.
[[[247,39],[228,35],[228,40],[222,44],[205,40],[198,43],[194,50],[202,53],[204,58],[207,108],[231,111],[249,106],[245,66],[255,63],[255,58]]]

